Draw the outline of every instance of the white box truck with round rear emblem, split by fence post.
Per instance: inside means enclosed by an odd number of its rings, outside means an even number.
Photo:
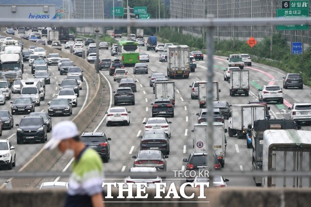
[[[214,152],[223,168],[225,166],[225,149],[227,145],[225,133],[227,129],[225,129],[225,125],[221,122],[213,122],[213,128]],[[207,123],[194,124],[194,129],[191,131],[194,132],[194,152],[207,152]]]

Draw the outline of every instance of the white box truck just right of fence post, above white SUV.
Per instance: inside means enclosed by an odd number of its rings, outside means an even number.
[[[231,71],[229,83],[230,96],[236,94],[249,96],[249,70]]]

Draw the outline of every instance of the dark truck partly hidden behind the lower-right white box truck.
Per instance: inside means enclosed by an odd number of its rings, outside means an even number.
[[[247,148],[253,148],[252,170],[262,170],[263,132],[269,129],[300,129],[294,121],[285,119],[256,120],[246,136]],[[261,176],[255,176],[256,186],[261,186]]]

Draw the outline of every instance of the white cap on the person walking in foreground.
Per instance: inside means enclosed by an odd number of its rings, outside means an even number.
[[[54,149],[62,140],[67,140],[79,135],[77,126],[72,121],[57,123],[52,130],[51,140],[44,145],[45,149]]]

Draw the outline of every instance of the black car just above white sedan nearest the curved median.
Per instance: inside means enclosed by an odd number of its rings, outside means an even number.
[[[114,104],[117,106],[120,103],[131,103],[135,105],[135,94],[130,87],[119,87],[114,93]]]

